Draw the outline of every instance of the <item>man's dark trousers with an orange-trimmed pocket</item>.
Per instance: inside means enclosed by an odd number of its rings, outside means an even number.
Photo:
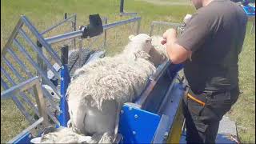
[[[182,110],[186,118],[186,142],[187,143],[214,143],[218,133],[218,126],[222,116],[226,114],[232,105],[238,100],[239,88],[226,90],[221,93],[202,93],[194,95],[205,106],[187,98],[184,94]]]

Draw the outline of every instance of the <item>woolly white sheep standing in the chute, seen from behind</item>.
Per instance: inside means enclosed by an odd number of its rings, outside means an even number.
[[[118,104],[138,98],[156,70],[150,62],[151,41],[146,34],[132,36],[122,54],[99,58],[74,72],[67,90],[74,130],[89,135],[114,133]]]

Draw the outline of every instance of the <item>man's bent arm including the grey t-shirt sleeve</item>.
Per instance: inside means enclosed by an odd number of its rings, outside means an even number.
[[[166,30],[163,34],[166,43],[167,54],[174,64],[182,63],[190,58],[192,53],[200,49],[207,38],[213,34],[215,26],[218,24],[216,14],[200,9],[189,22],[181,36],[177,38],[177,32],[174,29]]]

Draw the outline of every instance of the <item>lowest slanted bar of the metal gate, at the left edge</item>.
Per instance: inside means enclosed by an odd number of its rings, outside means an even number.
[[[8,90],[8,89],[9,89],[9,86],[7,86],[6,82],[4,82],[2,78],[1,78],[1,85],[3,86],[3,88],[4,88],[5,90]],[[3,98],[3,97],[2,97],[2,94],[1,94],[1,100],[2,100],[2,99],[5,99],[5,98]],[[31,118],[30,114],[28,114],[28,113],[26,112],[26,109],[22,106],[22,102],[20,102],[20,101],[18,100],[17,96],[12,95],[11,99],[14,101],[15,105],[18,107],[18,110],[20,110],[20,111],[22,112],[22,114],[25,116],[26,120],[27,120],[28,122],[30,122],[30,124],[33,123],[33,120],[32,120],[32,118]]]

